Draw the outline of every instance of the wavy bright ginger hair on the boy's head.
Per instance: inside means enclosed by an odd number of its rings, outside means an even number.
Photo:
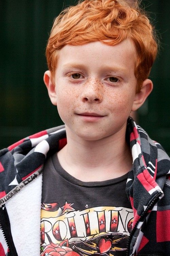
[[[116,45],[131,39],[136,48],[135,76],[138,93],[149,76],[157,54],[153,26],[139,4],[125,0],[84,0],[70,6],[54,20],[46,48],[48,68],[54,78],[58,51],[66,44],[101,41]]]

